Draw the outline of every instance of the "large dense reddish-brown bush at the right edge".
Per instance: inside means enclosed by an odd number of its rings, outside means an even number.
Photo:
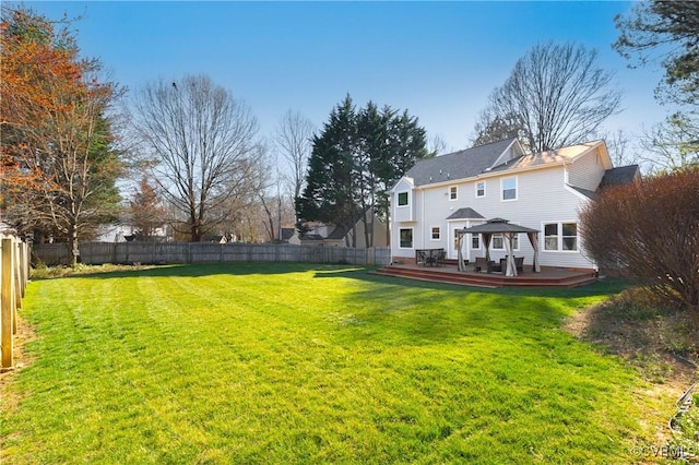
[[[606,189],[581,212],[585,250],[687,309],[699,330],[699,169]]]

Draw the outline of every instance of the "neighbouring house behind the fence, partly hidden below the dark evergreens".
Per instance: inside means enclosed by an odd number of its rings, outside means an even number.
[[[376,214],[370,214],[369,212],[367,212],[366,219],[369,225],[372,225],[374,247],[388,247],[388,228],[386,224]],[[356,247],[366,248],[367,241],[363,220],[357,222],[354,230],[352,227],[322,223],[311,223],[307,226],[310,227],[310,230],[300,236],[303,246],[352,247],[353,234],[356,233]]]

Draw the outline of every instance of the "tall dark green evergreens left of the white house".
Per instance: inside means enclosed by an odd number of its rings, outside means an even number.
[[[345,234],[363,220],[365,243],[371,247],[374,214],[389,219],[388,191],[415,162],[430,155],[425,129],[407,111],[379,110],[372,102],[357,111],[347,95],[312,142],[297,215],[335,224]],[[347,246],[356,247],[356,231],[352,238]]]

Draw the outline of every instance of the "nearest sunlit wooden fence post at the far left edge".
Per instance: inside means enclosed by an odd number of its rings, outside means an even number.
[[[2,257],[0,274],[0,320],[2,321],[2,365],[0,370],[7,371],[14,367],[13,326],[14,326],[14,265],[12,255],[14,243],[12,239],[2,238]]]

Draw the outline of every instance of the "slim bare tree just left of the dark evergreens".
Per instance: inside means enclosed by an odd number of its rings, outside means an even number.
[[[313,132],[313,124],[298,111],[287,110],[280,119],[274,142],[291,171],[292,202],[304,189]]]

